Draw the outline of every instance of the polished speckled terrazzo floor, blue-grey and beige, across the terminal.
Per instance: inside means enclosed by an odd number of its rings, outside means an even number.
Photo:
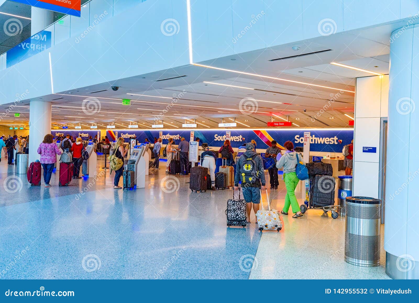
[[[228,229],[232,190],[191,193],[189,177],[167,176],[161,164],[145,189],[123,191],[101,169],[69,187],[55,175],[51,188],[31,187],[3,159],[0,279],[387,278],[383,266],[344,262],[344,218],[308,211],[283,218],[280,233],[259,233],[254,218]]]

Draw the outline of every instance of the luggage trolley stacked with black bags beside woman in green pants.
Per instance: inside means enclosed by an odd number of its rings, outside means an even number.
[[[339,205],[335,204],[335,187],[336,181],[333,175],[333,168],[330,163],[321,161],[311,162],[307,165],[308,169],[308,200],[300,205],[301,213],[305,213],[308,209],[321,209],[325,213],[331,211],[332,218],[339,216]]]

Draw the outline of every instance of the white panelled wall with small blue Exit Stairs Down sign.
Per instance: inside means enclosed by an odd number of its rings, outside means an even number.
[[[353,195],[378,198],[380,123],[388,113],[388,75],[357,78],[354,126]],[[364,146],[376,153],[362,152]]]

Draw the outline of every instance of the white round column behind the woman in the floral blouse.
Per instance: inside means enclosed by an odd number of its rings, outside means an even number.
[[[39,144],[51,134],[51,102],[31,101],[29,108],[29,163],[39,159]]]

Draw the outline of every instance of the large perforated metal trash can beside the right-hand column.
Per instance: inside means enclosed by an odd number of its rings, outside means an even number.
[[[345,261],[364,267],[380,265],[381,200],[347,197]]]

